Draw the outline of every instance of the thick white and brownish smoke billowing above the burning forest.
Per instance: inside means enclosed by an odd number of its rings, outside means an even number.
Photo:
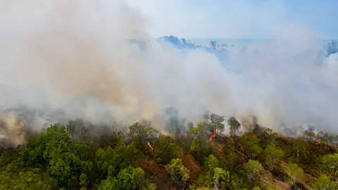
[[[308,32],[307,41],[265,44],[258,54],[229,52],[222,65],[204,51],[180,56],[154,40],[142,50],[130,44],[127,39],[151,36],[142,14],[125,1],[0,5],[0,108],[6,113],[0,134],[15,144],[27,132],[74,118],[94,126],[119,122],[123,129],[145,119],[163,129],[170,106],[193,122],[208,110],[225,118],[253,114],[273,129],[280,122],[337,126],[337,75],[327,77],[327,60],[318,61]],[[299,37],[303,30],[285,31],[281,36]]]

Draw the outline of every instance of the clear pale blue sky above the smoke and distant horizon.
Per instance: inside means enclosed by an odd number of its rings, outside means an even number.
[[[337,0],[129,0],[153,37],[275,38],[295,27],[338,39]],[[303,33],[303,32],[301,32]]]

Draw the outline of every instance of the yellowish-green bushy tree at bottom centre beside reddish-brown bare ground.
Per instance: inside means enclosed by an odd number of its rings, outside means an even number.
[[[165,165],[165,170],[177,186],[187,186],[187,181],[190,178],[189,170],[184,167],[180,158],[171,160],[170,164]]]

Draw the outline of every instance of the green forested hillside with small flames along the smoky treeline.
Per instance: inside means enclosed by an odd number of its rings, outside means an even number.
[[[0,189],[338,189],[337,136],[309,126],[280,137],[217,114],[185,123],[170,120],[170,136],[150,122],[100,137],[81,120],[51,125],[1,148]]]

